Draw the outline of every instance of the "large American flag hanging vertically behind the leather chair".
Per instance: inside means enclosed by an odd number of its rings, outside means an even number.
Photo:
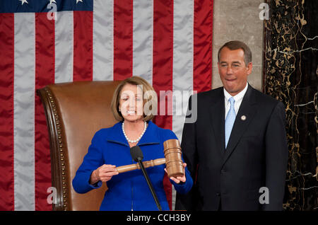
[[[212,22],[213,0],[0,0],[0,210],[52,209],[36,89],[136,75],[157,93],[207,91]],[[187,108],[187,99],[168,104]],[[180,140],[183,122],[155,117]]]

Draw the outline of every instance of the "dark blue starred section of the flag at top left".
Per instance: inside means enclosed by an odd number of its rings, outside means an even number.
[[[52,9],[56,9],[56,11],[93,11],[93,0],[55,0],[55,2],[50,0],[0,0],[0,13],[46,13],[52,12]]]

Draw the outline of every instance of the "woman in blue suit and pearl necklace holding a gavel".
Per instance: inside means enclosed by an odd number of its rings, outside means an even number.
[[[112,98],[112,113],[119,120],[113,127],[95,133],[88,153],[73,178],[73,188],[86,193],[107,182],[100,210],[158,210],[141,170],[118,173],[117,166],[134,163],[130,148],[138,145],[143,161],[164,158],[163,142],[177,139],[170,129],[151,122],[157,113],[157,95],[139,76],[122,81]],[[170,178],[180,194],[192,188],[192,177],[184,163],[184,176]],[[146,168],[163,210],[169,210],[163,188],[165,165]]]

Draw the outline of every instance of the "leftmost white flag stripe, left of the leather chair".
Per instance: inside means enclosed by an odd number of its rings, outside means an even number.
[[[14,208],[35,210],[35,13],[14,14]]]

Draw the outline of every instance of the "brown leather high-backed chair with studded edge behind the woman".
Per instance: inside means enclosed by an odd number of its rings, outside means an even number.
[[[120,81],[55,83],[38,89],[45,108],[50,139],[52,187],[57,188],[53,210],[98,210],[107,187],[78,194],[72,180],[95,132],[111,127],[110,103]]]

